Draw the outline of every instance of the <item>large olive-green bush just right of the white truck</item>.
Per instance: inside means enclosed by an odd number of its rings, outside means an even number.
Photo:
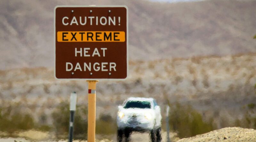
[[[205,122],[202,115],[189,105],[170,105],[169,125],[180,138],[195,136],[214,130],[213,120]]]

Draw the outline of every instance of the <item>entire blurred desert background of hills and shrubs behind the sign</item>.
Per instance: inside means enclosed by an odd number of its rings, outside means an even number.
[[[75,138],[85,138],[87,83],[53,76],[53,9],[92,4],[129,8],[129,76],[98,83],[96,138],[115,140],[117,106],[130,96],[153,97],[162,112],[171,107],[173,141],[229,126],[256,129],[255,0],[2,0],[1,137],[38,130],[51,132],[39,139],[66,138],[76,91]]]

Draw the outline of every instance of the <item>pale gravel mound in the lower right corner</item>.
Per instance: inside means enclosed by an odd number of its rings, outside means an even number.
[[[240,127],[228,127],[196,135],[190,138],[182,138],[178,142],[256,142],[256,130]]]

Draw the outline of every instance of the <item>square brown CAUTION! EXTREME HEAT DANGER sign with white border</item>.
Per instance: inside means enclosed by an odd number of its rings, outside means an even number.
[[[56,6],[54,16],[56,78],[127,77],[126,6]]]

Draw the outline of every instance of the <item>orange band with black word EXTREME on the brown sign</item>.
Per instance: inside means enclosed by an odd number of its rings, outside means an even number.
[[[58,42],[124,42],[122,31],[61,31],[57,32]]]

